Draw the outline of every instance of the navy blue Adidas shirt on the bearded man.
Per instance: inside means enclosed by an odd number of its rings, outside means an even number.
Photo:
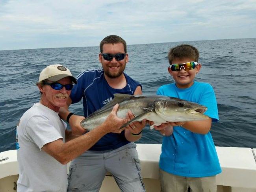
[[[134,81],[125,73],[124,76],[127,83],[126,87],[113,89],[108,85],[102,68],[83,71],[78,75],[78,83],[74,85],[71,91],[70,98],[72,104],[79,102],[83,98],[83,113],[87,117],[89,114],[111,102],[115,93],[133,95],[137,86],[141,86],[141,84]],[[89,150],[114,150],[129,142],[124,136],[124,131],[122,133],[108,133]]]

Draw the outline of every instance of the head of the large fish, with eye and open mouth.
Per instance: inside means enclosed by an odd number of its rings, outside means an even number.
[[[203,113],[207,110],[204,105],[173,97],[162,97],[154,102],[155,112],[169,122],[204,120],[209,117]]]

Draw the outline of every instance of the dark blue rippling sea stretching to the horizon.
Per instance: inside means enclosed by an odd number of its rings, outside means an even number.
[[[125,72],[142,84],[143,94],[155,94],[161,85],[173,83],[167,53],[179,44],[198,48],[202,68],[195,80],[215,90],[220,118],[210,131],[215,145],[256,148],[256,39],[128,45]],[[0,51],[0,152],[15,149],[19,118],[40,100],[35,83],[41,70],[60,63],[78,76],[101,67],[98,53],[99,46]],[[70,111],[83,115],[82,103],[71,105]],[[146,127],[137,143],[161,142],[161,135]]]

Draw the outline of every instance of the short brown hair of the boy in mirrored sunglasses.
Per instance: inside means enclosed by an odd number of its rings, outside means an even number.
[[[198,62],[199,52],[198,52],[197,48],[195,48],[189,44],[181,44],[174,48],[171,48],[168,53],[168,61],[169,61],[170,65],[172,64],[172,61],[175,58],[182,59],[185,57],[190,58],[195,62]]]

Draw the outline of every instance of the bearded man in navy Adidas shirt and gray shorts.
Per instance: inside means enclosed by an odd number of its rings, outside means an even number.
[[[67,106],[83,99],[83,112],[87,117],[111,102],[115,93],[142,94],[141,84],[124,73],[128,59],[126,42],[121,37],[105,37],[100,42],[102,68],[85,70],[78,75],[78,83],[72,89]],[[72,133],[85,133],[80,126],[84,117],[73,115],[67,108],[61,109],[61,118],[66,120],[68,117]],[[134,118],[132,113],[128,116]],[[109,133],[89,151],[74,159],[69,168],[68,191],[98,192],[106,172],[110,172],[121,191],[145,192],[134,143],[141,138],[145,125],[146,120],[143,120],[130,124],[121,133]]]

